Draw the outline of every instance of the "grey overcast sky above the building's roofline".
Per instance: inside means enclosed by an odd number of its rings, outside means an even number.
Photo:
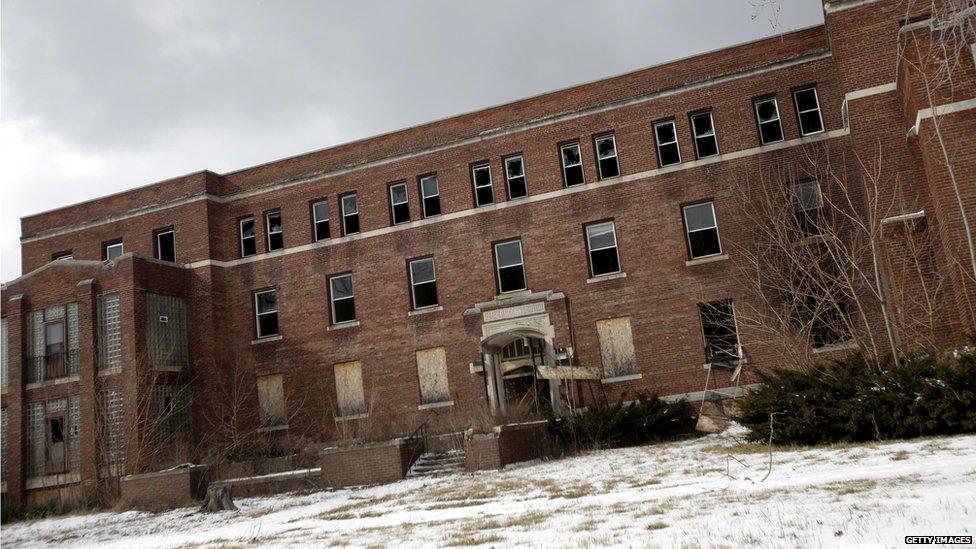
[[[0,271],[20,217],[823,20],[819,0],[0,3]]]

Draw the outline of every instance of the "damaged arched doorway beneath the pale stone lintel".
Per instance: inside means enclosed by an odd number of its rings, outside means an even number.
[[[521,408],[543,412],[558,404],[555,380],[539,377],[539,368],[555,364],[546,334],[515,328],[481,341],[488,402],[496,412]]]

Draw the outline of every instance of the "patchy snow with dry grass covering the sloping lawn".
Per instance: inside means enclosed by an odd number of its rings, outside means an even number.
[[[774,451],[738,431],[505,471],[4,526],[5,546],[849,547],[976,533],[976,436]],[[729,456],[734,456],[730,458]]]

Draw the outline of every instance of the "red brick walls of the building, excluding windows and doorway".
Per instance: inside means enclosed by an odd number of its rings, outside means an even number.
[[[944,345],[962,343],[963,334],[976,331],[971,306],[976,284],[966,272],[964,214],[936,147],[933,118],[923,116],[930,104],[920,95],[924,63],[896,74],[899,41],[914,45],[929,39],[923,30],[899,31],[904,18],[899,6],[892,0],[834,3],[827,7],[824,26],[24,218],[25,275],[7,283],[2,297],[11,365],[3,395],[9,425],[7,497],[22,500],[37,480],[25,470],[26,403],[81,395],[77,479],[88,485],[101,470],[94,444],[101,432],[96,397],[105,388],[119,388],[124,469],[134,473],[143,467],[136,433],[137,409],[147,398],[142,381],[150,351],[147,323],[163,322],[148,318],[147,293],[185,300],[189,363],[186,371],[163,377],[166,383],[190,385],[196,439],[209,425],[216,395],[233,384],[228,372],[239,372],[235,375],[251,388],[241,396],[251,410],[258,407],[255,376],[281,374],[287,422],[272,426],[277,433],[283,430],[292,441],[334,440],[349,425],[343,422],[363,421],[335,418],[334,366],[357,361],[367,419],[375,430],[403,436],[427,421],[435,430],[456,431],[459,418],[492,404],[482,345],[505,326],[511,333],[529,333],[518,330],[532,327],[551,356],[566,353],[567,364],[599,371],[597,322],[629,317],[636,372],[607,383],[596,380],[608,396],[701,391],[707,372],[698,304],[749,299],[747,289],[735,282],[741,265],[732,250],[733,243],[748,241],[750,228],[732,207],[728,182],[795,162],[810,151],[845,168],[879,148],[885,151],[884,175],[901,183],[897,211],[889,213],[897,218],[924,210],[913,218],[911,230],[934,243],[926,272],[941,273],[946,281],[932,329]],[[960,60],[959,71],[957,81],[976,81],[971,57]],[[810,85],[816,87],[824,131],[804,136],[792,93]],[[784,140],[762,145],[753,99],[770,94],[777,98]],[[955,160],[971,225],[976,225],[974,97],[976,90],[962,85],[944,93],[940,88],[936,102],[953,105],[939,118],[939,129]],[[705,109],[712,113],[721,154],[696,159],[689,116]],[[653,128],[669,119],[682,162],[661,167]],[[917,120],[917,135],[906,139]],[[601,181],[594,138],[606,133],[614,135],[621,175]],[[585,184],[567,188],[559,146],[573,141],[580,146]],[[510,201],[504,159],[514,154],[524,160],[528,197]],[[491,168],[495,203],[476,208],[471,167],[482,162]],[[432,173],[442,214],[423,219],[420,177]],[[398,181],[407,183],[411,222],[391,226],[388,185]],[[349,192],[357,194],[361,232],[342,236],[339,197]],[[331,238],[316,242],[311,204],[322,199],[328,202]],[[714,203],[724,253],[690,262],[682,206],[704,200]],[[281,213],[282,250],[266,251],[269,211]],[[257,253],[249,257],[241,257],[244,217],[255,223]],[[614,222],[625,276],[591,276],[585,225],[604,220]],[[176,262],[150,259],[156,253],[155,231],[170,227]],[[500,296],[492,244],[513,238],[521,239],[530,293]],[[116,241],[125,254],[103,261],[104,245]],[[896,258],[902,252],[893,246]],[[72,261],[52,262],[66,251]],[[434,258],[438,306],[412,311],[407,262],[421,257]],[[357,322],[331,326],[329,278],[345,273],[352,274]],[[891,273],[889,285],[896,287],[897,269]],[[253,292],[269,288],[277,292],[279,335],[259,339]],[[97,303],[111,292],[120,296],[123,368],[101,374]],[[79,307],[80,373],[28,387],[21,368],[28,356],[27,316],[65,303]],[[869,329],[876,329],[871,322]],[[751,382],[755,368],[777,363],[776,343],[762,334],[743,327],[739,340],[749,359],[740,383]],[[434,405],[421,402],[415,356],[431,348],[445,350],[450,395]],[[568,383],[556,398],[582,402],[588,394],[583,383],[591,382]],[[711,383],[732,381],[728,373],[716,372]],[[241,427],[268,427],[258,424],[258,416],[242,419]]]

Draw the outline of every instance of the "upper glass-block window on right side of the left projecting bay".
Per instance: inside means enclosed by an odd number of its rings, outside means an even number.
[[[150,364],[157,370],[182,370],[187,365],[186,302],[147,293],[146,309]]]

